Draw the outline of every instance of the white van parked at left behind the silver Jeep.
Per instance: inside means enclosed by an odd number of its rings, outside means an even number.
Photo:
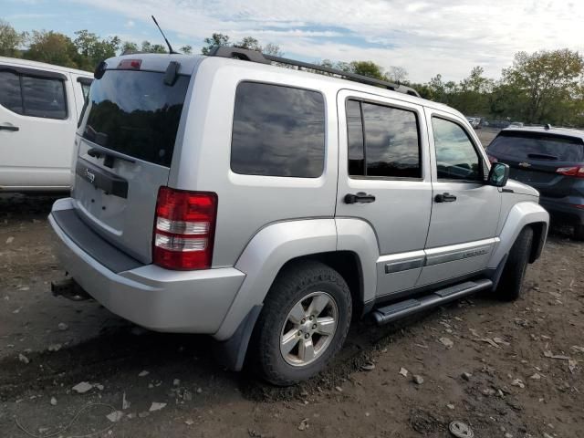
[[[92,73],[0,57],[0,192],[67,192]]]

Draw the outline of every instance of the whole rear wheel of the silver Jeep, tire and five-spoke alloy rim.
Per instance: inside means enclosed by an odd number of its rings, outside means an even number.
[[[312,260],[288,266],[255,325],[256,370],[278,386],[314,376],[342,347],[351,311],[349,287],[337,271]]]

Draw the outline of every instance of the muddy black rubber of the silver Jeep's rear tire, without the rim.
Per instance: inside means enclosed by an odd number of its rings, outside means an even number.
[[[296,330],[295,326],[290,328],[288,314],[292,308],[297,308],[298,302],[303,297],[312,300],[314,297],[309,297],[310,294],[318,293],[326,296],[327,299],[332,297],[334,300],[337,315],[336,329],[334,334],[330,335],[330,339],[325,342],[326,348],[322,349],[318,356],[315,354],[312,362],[291,365],[288,363],[289,356],[287,355],[285,359],[280,349],[284,333],[288,330],[289,332]],[[302,301],[300,306],[304,307],[303,303],[309,302],[311,301]],[[329,303],[328,306],[332,308],[333,305]],[[307,307],[309,308],[308,305]],[[277,386],[294,385],[314,376],[327,366],[328,360],[337,354],[345,342],[349,333],[351,312],[349,287],[337,271],[313,260],[304,260],[287,266],[285,271],[276,277],[255,324],[251,345],[255,370],[261,378]],[[298,339],[303,339],[306,335],[298,334],[298,336]],[[310,336],[312,342],[312,335]],[[314,339],[320,339],[320,336],[315,333]],[[317,345],[318,341],[314,346]],[[296,348],[299,348],[298,345]],[[300,353],[297,354],[299,357]]]

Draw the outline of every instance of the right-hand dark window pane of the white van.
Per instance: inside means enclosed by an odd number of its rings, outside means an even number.
[[[26,116],[67,119],[62,80],[23,76],[22,96]]]

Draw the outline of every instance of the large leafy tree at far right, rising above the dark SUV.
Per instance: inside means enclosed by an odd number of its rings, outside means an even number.
[[[568,48],[516,54],[513,66],[503,69],[503,82],[525,99],[525,120],[542,123],[558,118],[577,93],[584,59]],[[560,111],[562,112],[562,111]]]

